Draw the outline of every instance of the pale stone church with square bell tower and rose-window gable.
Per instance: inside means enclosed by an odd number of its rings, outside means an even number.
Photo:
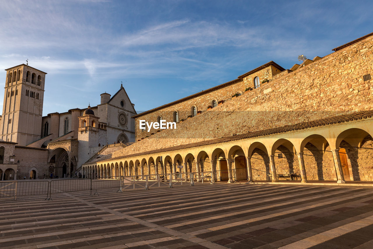
[[[25,64],[6,72],[0,179],[72,176],[109,144],[134,142],[136,111],[122,85],[113,96],[102,93],[97,106],[43,117],[46,73]]]

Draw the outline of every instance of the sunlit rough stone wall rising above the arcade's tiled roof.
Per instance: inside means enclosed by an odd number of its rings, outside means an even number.
[[[373,73],[372,40],[373,37],[368,37],[258,89],[247,91],[242,96],[178,123],[175,130],[156,132],[113,153],[113,157],[308,122],[351,111],[371,110],[373,80],[364,82],[363,75]],[[231,85],[229,94],[233,94],[240,84],[238,88],[244,89],[243,82]],[[223,90],[217,90],[216,94],[219,91],[222,96]],[[193,103],[188,100],[184,105],[190,107]],[[156,116],[156,113],[149,114],[149,121],[155,121]],[[166,119],[170,117],[171,112]]]

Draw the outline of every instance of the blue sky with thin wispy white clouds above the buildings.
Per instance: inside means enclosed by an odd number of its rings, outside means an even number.
[[[328,55],[373,32],[372,9],[373,1],[3,0],[0,68],[29,59],[48,73],[43,115],[97,105],[121,81],[144,111],[271,60],[290,68],[300,54]]]

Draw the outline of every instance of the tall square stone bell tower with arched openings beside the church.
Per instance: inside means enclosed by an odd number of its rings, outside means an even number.
[[[1,140],[26,146],[41,137],[47,73],[21,64],[5,70]]]

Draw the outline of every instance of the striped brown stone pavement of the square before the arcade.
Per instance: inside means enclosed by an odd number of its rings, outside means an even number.
[[[204,184],[0,202],[0,248],[373,248],[373,189]]]

